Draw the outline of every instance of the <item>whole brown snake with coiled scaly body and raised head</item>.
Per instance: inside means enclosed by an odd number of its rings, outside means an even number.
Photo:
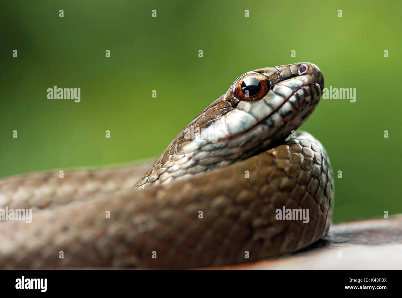
[[[323,88],[312,63],[260,68],[154,163],[0,179],[0,268],[190,269],[308,247],[330,228],[334,181],[324,146],[297,129]]]

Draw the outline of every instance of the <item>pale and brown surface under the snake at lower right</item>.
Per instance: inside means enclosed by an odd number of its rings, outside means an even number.
[[[402,214],[390,218],[335,224],[327,236],[293,255],[213,269],[400,270],[402,269]]]

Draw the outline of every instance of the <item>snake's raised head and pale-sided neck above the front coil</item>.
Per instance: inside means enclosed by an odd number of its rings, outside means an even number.
[[[242,74],[176,135],[136,186],[209,171],[272,148],[306,121],[323,88],[320,69],[307,62]]]

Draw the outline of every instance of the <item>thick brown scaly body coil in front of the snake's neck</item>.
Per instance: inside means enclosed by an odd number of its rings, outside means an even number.
[[[43,210],[31,224],[2,223],[0,268],[185,269],[257,261],[318,240],[330,226],[332,196],[326,151],[302,133],[192,179]],[[283,206],[309,208],[310,221],[276,220]]]

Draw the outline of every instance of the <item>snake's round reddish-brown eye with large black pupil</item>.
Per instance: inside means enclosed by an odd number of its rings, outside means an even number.
[[[241,101],[258,101],[271,88],[269,79],[263,74],[249,72],[238,78],[233,86],[233,95]]]

